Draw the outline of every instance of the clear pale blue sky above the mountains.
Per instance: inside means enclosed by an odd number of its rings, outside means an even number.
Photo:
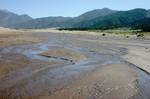
[[[0,0],[0,9],[17,14],[28,14],[33,18],[74,17],[101,8],[113,10],[150,9],[150,0]]]

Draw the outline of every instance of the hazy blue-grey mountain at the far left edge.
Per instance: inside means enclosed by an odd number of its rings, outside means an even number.
[[[7,10],[0,10],[0,26],[10,27],[18,23],[29,21],[32,18],[28,15],[17,15]]]

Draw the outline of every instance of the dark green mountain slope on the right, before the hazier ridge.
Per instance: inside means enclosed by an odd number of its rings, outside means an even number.
[[[148,11],[145,9],[133,9],[129,11],[117,11],[115,13],[97,17],[89,21],[81,21],[74,24],[74,28],[113,28],[128,27],[134,21],[148,17]]]

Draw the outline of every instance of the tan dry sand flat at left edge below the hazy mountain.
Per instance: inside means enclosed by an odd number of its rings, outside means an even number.
[[[46,40],[46,37],[37,37],[31,31],[0,28],[0,47],[31,44]]]

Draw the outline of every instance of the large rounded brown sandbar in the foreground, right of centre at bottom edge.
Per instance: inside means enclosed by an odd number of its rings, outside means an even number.
[[[41,99],[134,98],[138,92],[134,83],[136,79],[136,72],[127,65],[106,65],[52,96],[44,96]]]

